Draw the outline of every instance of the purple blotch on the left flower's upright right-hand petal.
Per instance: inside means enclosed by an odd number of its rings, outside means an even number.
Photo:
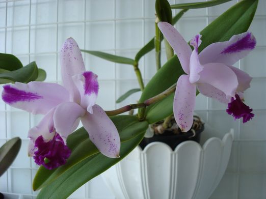
[[[84,72],[83,76],[85,77],[85,95],[90,95],[92,93],[95,93],[97,95],[99,90],[99,84],[97,81],[98,76],[91,71]]]

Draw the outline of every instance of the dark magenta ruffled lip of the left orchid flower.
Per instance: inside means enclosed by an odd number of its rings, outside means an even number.
[[[71,154],[58,133],[47,142],[43,139],[43,136],[39,136],[34,147],[37,149],[33,157],[36,164],[43,165],[47,169],[54,169],[65,164],[66,159]]]

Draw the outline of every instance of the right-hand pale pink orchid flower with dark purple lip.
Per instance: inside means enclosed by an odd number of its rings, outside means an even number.
[[[190,45],[178,31],[167,22],[159,22],[159,29],[174,49],[186,75],[177,80],[174,96],[174,117],[182,132],[190,130],[193,124],[196,90],[207,97],[228,104],[227,112],[243,123],[254,117],[252,109],[243,103],[243,93],[250,87],[251,77],[233,67],[255,48],[252,33],[234,35],[229,41],[212,43],[198,53],[201,35],[196,35]]]

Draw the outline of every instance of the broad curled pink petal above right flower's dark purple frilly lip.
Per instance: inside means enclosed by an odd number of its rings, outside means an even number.
[[[197,83],[208,83],[214,86],[221,90],[227,99],[234,96],[238,87],[235,73],[228,66],[220,63],[205,64]]]

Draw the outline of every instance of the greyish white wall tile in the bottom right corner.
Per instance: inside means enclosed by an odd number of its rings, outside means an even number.
[[[266,195],[266,175],[241,174],[239,196],[241,199],[262,199]]]

